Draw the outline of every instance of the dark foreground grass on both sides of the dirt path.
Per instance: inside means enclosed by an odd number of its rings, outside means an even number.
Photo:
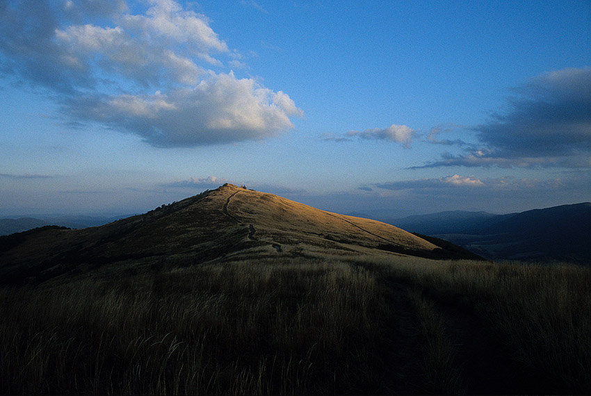
[[[400,307],[391,296],[400,290],[419,347],[392,342]],[[498,346],[517,372],[521,383],[503,393],[591,393],[591,272],[583,267],[393,256],[240,261],[3,288],[0,302],[1,393],[412,390],[392,382],[405,365],[392,356],[419,360],[408,374],[425,386],[414,393],[467,392],[470,362],[458,361],[448,322],[456,311],[474,317],[485,332],[475,339]],[[397,355],[393,345],[417,350]]]

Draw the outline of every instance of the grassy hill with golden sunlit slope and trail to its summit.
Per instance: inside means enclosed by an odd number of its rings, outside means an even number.
[[[278,197],[225,184],[103,226],[46,226],[0,237],[0,279],[43,281],[60,275],[104,276],[120,270],[192,265],[213,260],[306,256],[410,255],[478,258],[428,241],[390,224],[321,211]],[[116,264],[116,265],[115,265]]]

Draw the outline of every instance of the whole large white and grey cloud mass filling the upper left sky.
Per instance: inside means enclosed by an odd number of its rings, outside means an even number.
[[[224,56],[237,65],[237,53],[204,15],[173,0],[149,0],[138,14],[106,3],[0,3],[1,69],[59,93],[70,122],[100,122],[156,147],[259,140],[302,116],[288,94],[209,69],[223,68]],[[67,19],[87,11],[84,24]]]

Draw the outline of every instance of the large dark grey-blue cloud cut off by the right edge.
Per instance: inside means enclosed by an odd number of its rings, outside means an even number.
[[[591,68],[537,76],[507,113],[471,128],[480,142],[423,167],[591,167]]]

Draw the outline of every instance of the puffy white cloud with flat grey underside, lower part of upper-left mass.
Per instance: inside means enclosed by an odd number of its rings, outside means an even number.
[[[289,115],[301,112],[287,94],[232,73],[168,94],[86,97],[65,110],[80,119],[123,126],[156,147],[269,138],[292,128]]]

